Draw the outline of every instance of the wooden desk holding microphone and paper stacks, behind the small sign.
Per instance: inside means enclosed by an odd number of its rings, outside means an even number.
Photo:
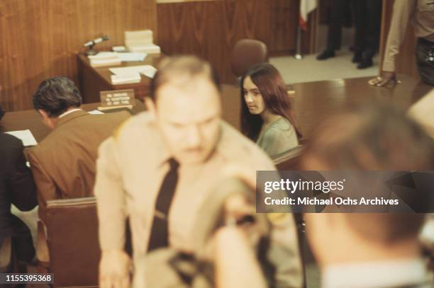
[[[135,98],[143,99],[148,96],[150,78],[142,75],[142,80],[139,83],[118,84],[111,83],[111,71],[109,68],[131,67],[138,65],[152,65],[156,67],[163,54],[149,54],[145,61],[141,62],[122,62],[121,65],[91,67],[89,58],[85,54],[78,54],[77,66],[79,71],[80,91],[82,92],[83,103],[96,103],[100,101],[100,91],[111,91],[120,89],[134,89]]]

